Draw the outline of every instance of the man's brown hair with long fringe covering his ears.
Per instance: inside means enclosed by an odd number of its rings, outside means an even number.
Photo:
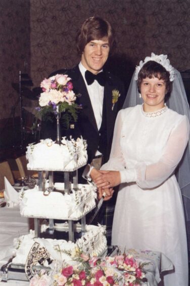
[[[113,50],[115,44],[114,31],[108,21],[99,17],[90,17],[84,21],[77,35],[77,50],[81,55],[86,44],[92,40],[108,39],[110,51]]]

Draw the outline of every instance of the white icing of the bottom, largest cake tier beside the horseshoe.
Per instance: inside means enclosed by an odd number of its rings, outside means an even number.
[[[86,226],[86,233],[76,241],[66,241],[63,239],[34,238],[34,231],[30,230],[27,235],[22,235],[14,239],[13,258],[14,264],[26,263],[28,254],[34,242],[44,246],[51,255],[51,259],[62,262],[71,262],[72,258],[65,251],[74,253],[75,248],[79,248],[83,253],[92,256],[102,256],[107,251],[107,240],[103,226]]]

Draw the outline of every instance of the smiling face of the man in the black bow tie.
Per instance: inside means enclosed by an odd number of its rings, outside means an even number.
[[[83,66],[97,75],[108,59],[110,47],[108,39],[92,40],[86,44],[81,56]]]

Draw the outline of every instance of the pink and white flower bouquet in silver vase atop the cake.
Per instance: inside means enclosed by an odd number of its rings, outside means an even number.
[[[67,75],[59,75],[44,79],[40,87],[42,93],[39,97],[40,107],[37,110],[44,116],[47,113],[64,114],[61,120],[68,129],[71,120],[77,121],[77,111],[81,108],[75,100],[78,95],[73,92],[71,78]]]

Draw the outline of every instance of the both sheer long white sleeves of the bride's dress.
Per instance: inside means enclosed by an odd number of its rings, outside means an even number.
[[[125,116],[124,111],[118,113],[110,159],[101,169],[119,170],[121,183],[136,182],[142,189],[155,188],[174,172],[182,158],[189,136],[187,118],[181,116],[178,124],[172,129],[162,156],[157,162],[146,164],[141,161],[137,162],[133,168],[127,168],[127,158],[124,158],[120,146]],[[135,145],[135,142],[133,144]]]

